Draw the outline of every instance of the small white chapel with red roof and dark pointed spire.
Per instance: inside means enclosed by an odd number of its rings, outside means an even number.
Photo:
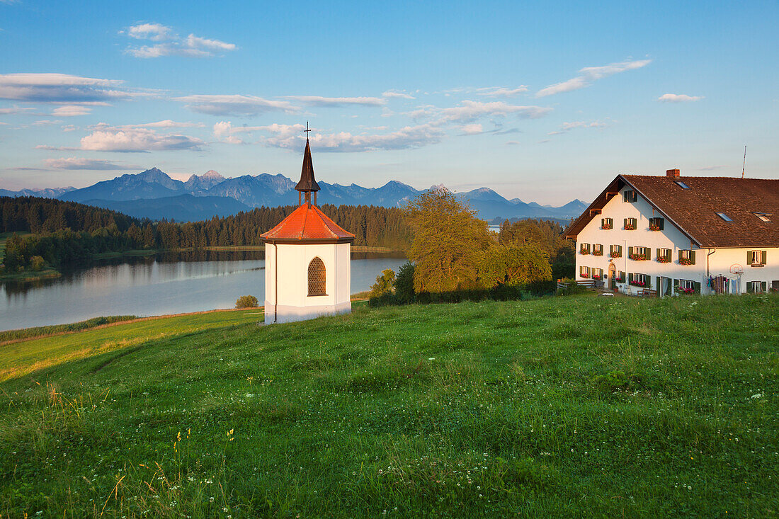
[[[295,189],[300,207],[260,236],[265,242],[266,324],[351,312],[354,235],[316,207],[319,184],[308,139]]]

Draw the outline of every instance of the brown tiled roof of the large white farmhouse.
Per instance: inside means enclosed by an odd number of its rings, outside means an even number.
[[[676,182],[690,189],[682,189]],[[779,246],[779,180],[727,177],[618,175],[566,235],[576,234],[605,206],[610,193],[630,185],[701,248]],[[724,213],[732,221],[724,221]],[[773,214],[770,222],[755,213]]]

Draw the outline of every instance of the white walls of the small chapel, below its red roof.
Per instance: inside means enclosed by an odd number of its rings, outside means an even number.
[[[351,244],[265,245],[265,323],[351,312]],[[308,295],[308,263],[325,264],[326,295]]]

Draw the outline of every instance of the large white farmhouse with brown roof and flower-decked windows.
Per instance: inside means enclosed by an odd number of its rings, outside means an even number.
[[[617,175],[566,238],[576,281],[627,294],[779,290],[779,180]]]

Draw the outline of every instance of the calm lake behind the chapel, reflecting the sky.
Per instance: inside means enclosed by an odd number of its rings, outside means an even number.
[[[233,308],[240,295],[265,300],[263,251],[178,252],[106,261],[54,280],[0,284],[0,330],[97,316],[158,316]],[[398,253],[354,252],[352,293],[371,288]]]

